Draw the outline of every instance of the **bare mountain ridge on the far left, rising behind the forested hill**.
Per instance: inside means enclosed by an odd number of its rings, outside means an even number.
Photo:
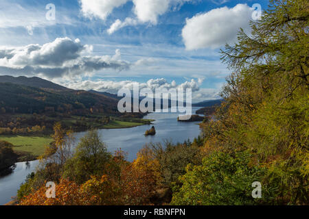
[[[52,90],[71,90],[51,81],[41,79],[40,77],[12,77],[8,75],[0,75],[0,83],[14,83],[34,88],[52,89]]]

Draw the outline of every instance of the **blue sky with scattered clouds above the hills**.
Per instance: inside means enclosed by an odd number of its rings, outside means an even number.
[[[192,88],[194,102],[220,98],[231,73],[220,49],[268,1],[1,0],[0,75],[117,93]]]

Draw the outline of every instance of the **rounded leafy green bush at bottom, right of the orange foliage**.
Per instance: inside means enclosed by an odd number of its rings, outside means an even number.
[[[174,188],[172,205],[253,205],[264,203],[267,188],[262,187],[262,198],[252,197],[252,183],[262,181],[265,168],[251,166],[249,153],[211,153],[201,166],[187,166],[180,177],[182,186]],[[262,184],[263,185],[263,184]]]

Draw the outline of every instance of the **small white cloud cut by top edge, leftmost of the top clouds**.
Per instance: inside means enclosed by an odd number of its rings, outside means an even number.
[[[80,0],[82,14],[88,18],[105,20],[114,8],[124,5],[128,0]]]

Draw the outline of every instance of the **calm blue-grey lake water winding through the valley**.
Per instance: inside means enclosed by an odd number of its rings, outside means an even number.
[[[192,114],[199,107],[192,107]],[[137,152],[144,144],[172,140],[172,142],[183,142],[187,139],[191,141],[200,133],[196,122],[180,123],[177,122],[176,113],[152,113],[144,118],[155,119],[154,126],[157,131],[155,136],[144,136],[146,129],[152,125],[142,125],[130,129],[100,129],[99,133],[108,146],[108,150],[113,152],[122,149],[128,153],[128,160],[133,161]],[[76,133],[76,142],[85,132]],[[0,178],[0,205],[8,203],[12,196],[16,196],[16,191],[25,180],[25,177],[36,169],[38,161],[16,163],[14,171],[5,177]]]

